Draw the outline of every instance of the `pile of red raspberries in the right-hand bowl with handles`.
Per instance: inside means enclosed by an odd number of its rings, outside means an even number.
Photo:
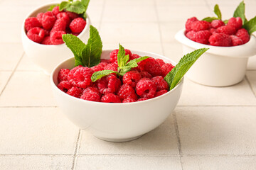
[[[196,17],[186,21],[186,37],[201,44],[230,47],[245,44],[250,35],[242,28],[242,19],[233,17],[225,23],[221,20],[212,22],[198,21]]]

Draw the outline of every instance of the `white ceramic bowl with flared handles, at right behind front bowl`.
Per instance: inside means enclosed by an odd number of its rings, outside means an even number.
[[[234,47],[203,45],[186,38],[185,29],[178,31],[175,38],[183,45],[183,55],[198,48],[210,48],[193,64],[186,76],[206,86],[230,86],[245,77],[248,57],[256,54],[256,38]]]

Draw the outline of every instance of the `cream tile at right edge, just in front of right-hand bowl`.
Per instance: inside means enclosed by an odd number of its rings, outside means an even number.
[[[256,98],[245,79],[234,86],[212,87],[185,77],[178,106],[256,106]]]

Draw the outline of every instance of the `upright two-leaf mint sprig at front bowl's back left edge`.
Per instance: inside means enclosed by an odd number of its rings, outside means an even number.
[[[90,26],[90,38],[87,41],[87,45],[72,34],[64,34],[63,41],[73,52],[75,67],[78,65],[93,67],[100,63],[102,41],[95,27]]]

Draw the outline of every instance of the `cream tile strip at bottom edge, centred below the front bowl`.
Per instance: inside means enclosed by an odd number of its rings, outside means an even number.
[[[85,156],[78,157],[75,169],[90,170],[181,170],[178,157]]]

